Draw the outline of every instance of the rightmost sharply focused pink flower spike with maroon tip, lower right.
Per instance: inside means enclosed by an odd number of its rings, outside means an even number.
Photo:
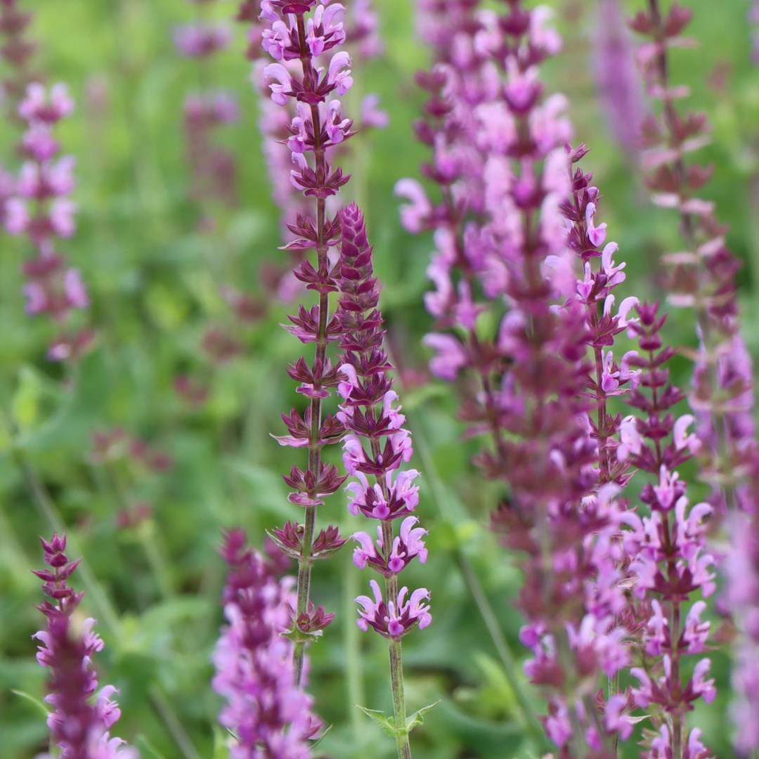
[[[628,326],[638,339],[635,365],[642,373],[639,389],[625,398],[638,415],[625,419],[626,446],[617,449],[625,463],[655,478],[638,494],[650,515],[629,510],[622,531],[629,557],[627,584],[637,600],[630,606],[627,622],[644,664],[630,670],[638,680],[631,695],[637,707],[658,704],[670,716],[666,723],[656,711],[651,716],[659,732],[649,736],[644,756],[650,759],[685,755],[685,713],[694,701],[703,698],[708,704],[716,694],[714,681],[707,676],[709,659],[698,660],[690,678],[682,672],[683,657],[703,653],[709,637],[710,623],[701,619],[706,603],[693,599],[699,593],[710,597],[715,590],[715,560],[707,549],[707,522],[713,507],[691,505],[686,483],[677,471],[698,452],[701,442],[686,434],[694,417],[676,417],[670,411],[685,394],[669,383],[666,363],[675,351],[663,345],[660,331],[666,316],[660,316],[657,308],[658,304],[638,304],[639,318]],[[691,732],[690,740],[698,740],[698,735],[694,738]]]

